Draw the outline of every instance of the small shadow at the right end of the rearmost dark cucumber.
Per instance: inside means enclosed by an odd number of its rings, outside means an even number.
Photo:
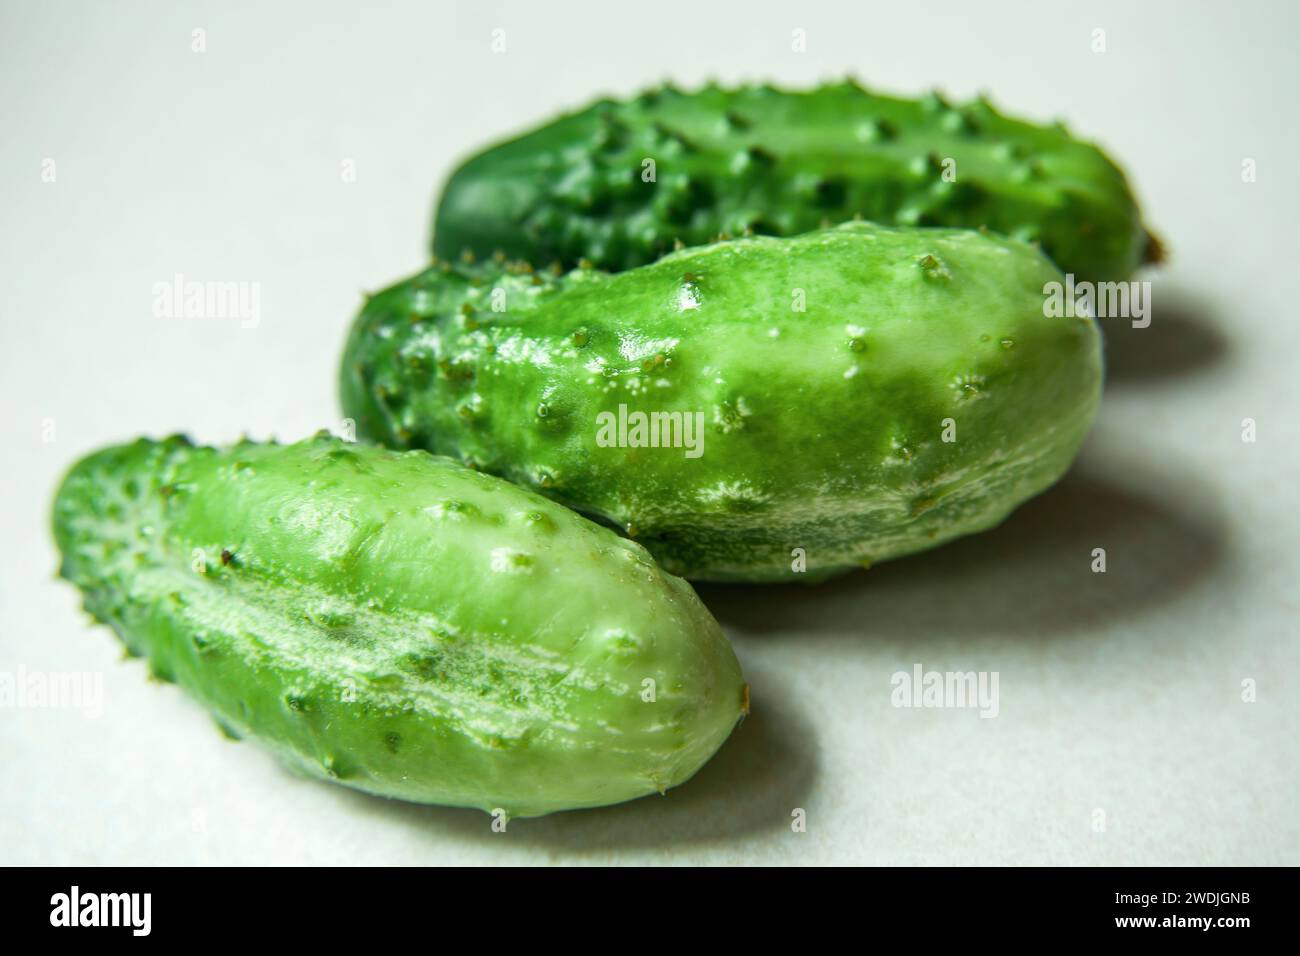
[[[1204,298],[1153,282],[1150,325],[1135,329],[1127,319],[1102,319],[1106,384],[1140,386],[1196,375],[1221,364],[1231,351],[1222,326]]]

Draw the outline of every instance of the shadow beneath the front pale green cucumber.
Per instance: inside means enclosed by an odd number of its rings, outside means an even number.
[[[421,806],[348,792],[358,809],[382,814],[428,840],[429,852],[445,852],[450,834],[494,847],[526,847],[555,856],[612,849],[667,849],[723,844],[758,831],[790,832],[790,812],[806,806],[818,774],[818,741],[811,723],[768,679],[746,662],[753,709],[731,737],[692,779],[663,796],[614,806],[568,810],[510,821],[493,832],[493,818],[480,810]]]

